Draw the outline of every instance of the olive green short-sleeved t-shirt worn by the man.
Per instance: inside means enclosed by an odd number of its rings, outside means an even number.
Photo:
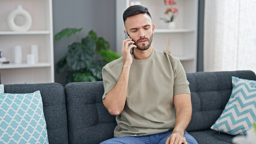
[[[114,88],[122,68],[122,57],[103,67],[103,99]],[[156,49],[147,59],[133,58],[126,104],[116,117],[114,136],[145,136],[174,128],[173,96],[177,94],[190,94],[186,73],[177,58]]]

